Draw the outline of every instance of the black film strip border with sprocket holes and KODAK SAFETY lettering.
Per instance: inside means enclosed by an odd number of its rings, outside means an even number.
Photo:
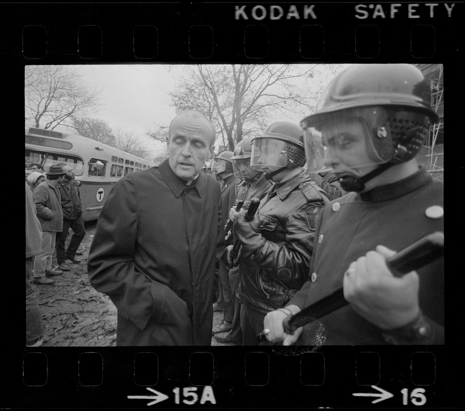
[[[446,106],[448,122],[452,132],[460,130],[454,121],[463,108],[463,2],[4,3],[0,10],[13,134],[22,135],[28,64],[443,64],[454,101],[454,107]],[[21,139],[14,145],[18,152],[19,145]],[[14,291],[4,302],[3,407],[456,408],[463,403],[454,310],[447,313],[452,329],[444,346],[26,348],[18,291],[23,283],[13,277],[10,272],[6,278]],[[455,295],[447,296],[451,301]]]

